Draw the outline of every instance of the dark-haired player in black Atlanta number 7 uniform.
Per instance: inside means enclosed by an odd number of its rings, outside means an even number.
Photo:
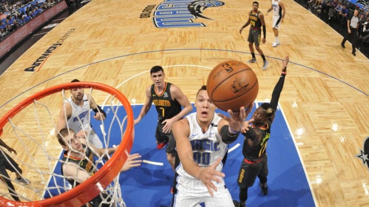
[[[164,80],[165,73],[161,66],[153,66],[150,70],[150,76],[153,84],[146,88],[146,101],[137,119],[134,120],[134,124],[139,123],[145,117],[154,102],[158,113],[155,132],[156,148],[158,150],[164,149],[169,143],[166,150],[167,159],[175,172],[174,164],[177,152],[175,151],[176,143],[172,134],[172,125],[192,111],[192,105],[179,87]],[[171,193],[172,191],[173,189],[171,189]]]

